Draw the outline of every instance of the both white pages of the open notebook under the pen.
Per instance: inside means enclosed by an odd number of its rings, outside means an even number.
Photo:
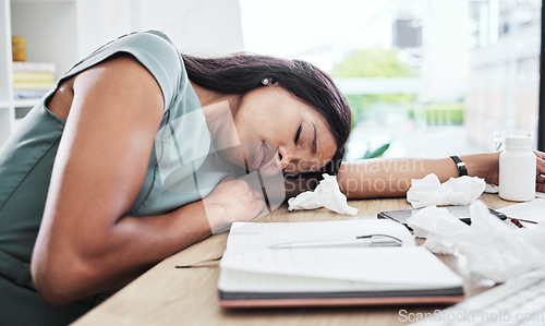
[[[334,241],[389,234],[403,247],[270,249],[295,241]],[[235,222],[221,259],[222,269],[299,275],[374,283],[459,286],[461,279],[425,249],[401,224],[389,220],[322,222]]]

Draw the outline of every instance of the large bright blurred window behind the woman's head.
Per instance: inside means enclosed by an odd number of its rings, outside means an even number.
[[[495,150],[537,138],[538,0],[240,0],[246,51],[307,60],[349,99],[347,159]],[[384,148],[384,146],[383,146]]]

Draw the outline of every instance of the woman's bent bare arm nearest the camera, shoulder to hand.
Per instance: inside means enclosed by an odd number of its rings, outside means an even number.
[[[213,192],[206,207],[201,201],[161,216],[125,216],[161,121],[161,90],[130,56],[82,72],[72,89],[31,264],[48,302],[63,304],[123,285],[208,237],[210,228],[234,216],[251,219],[263,208],[245,182],[230,182]],[[233,209],[233,203],[242,208]]]

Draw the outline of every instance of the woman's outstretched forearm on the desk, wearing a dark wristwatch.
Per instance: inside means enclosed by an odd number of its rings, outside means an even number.
[[[469,176],[498,183],[499,153],[462,156]],[[441,182],[458,177],[451,158],[377,158],[344,161],[337,179],[341,191],[349,198],[400,197],[407,194],[411,179],[435,173]]]

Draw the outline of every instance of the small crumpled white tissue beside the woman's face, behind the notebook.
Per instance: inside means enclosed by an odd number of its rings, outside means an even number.
[[[347,196],[340,192],[337,178],[327,173],[314,191],[306,191],[288,200],[288,210],[326,207],[338,214],[358,215],[358,208],[347,204]]]

